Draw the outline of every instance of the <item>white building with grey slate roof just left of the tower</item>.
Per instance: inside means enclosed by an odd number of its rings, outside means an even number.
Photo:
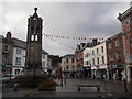
[[[23,74],[25,65],[26,43],[24,41],[12,38],[13,41],[13,61],[12,75],[20,76]]]

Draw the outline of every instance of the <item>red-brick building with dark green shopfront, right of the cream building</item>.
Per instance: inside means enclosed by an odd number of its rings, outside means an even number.
[[[109,37],[106,42],[109,79],[122,80],[125,63],[122,33]]]

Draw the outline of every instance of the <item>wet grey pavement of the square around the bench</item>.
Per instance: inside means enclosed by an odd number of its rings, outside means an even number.
[[[56,91],[37,91],[36,89],[23,89],[20,88],[19,91],[13,91],[13,88],[3,88],[2,96],[3,97],[125,97],[132,99],[130,92],[131,89],[128,86],[129,92],[125,92],[124,82],[119,80],[100,80],[100,79],[66,79],[66,84],[61,79],[56,79],[59,86],[56,87]],[[64,81],[64,80],[63,80]],[[81,88],[78,91],[76,85],[80,84],[100,84],[101,90],[97,91],[95,87],[86,87]],[[132,86],[131,86],[132,87]],[[116,98],[118,99],[118,98]]]

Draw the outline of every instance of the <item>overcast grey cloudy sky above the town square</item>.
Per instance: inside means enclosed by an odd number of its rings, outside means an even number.
[[[43,34],[68,37],[103,37],[121,32],[117,19],[119,12],[125,11],[129,2],[3,2],[2,35],[11,31],[13,37],[26,41],[28,18],[38,8],[43,21]],[[66,55],[75,50],[79,40],[54,38],[43,36],[43,48],[54,55]],[[59,44],[61,42],[62,44]],[[68,46],[65,46],[68,45]]]

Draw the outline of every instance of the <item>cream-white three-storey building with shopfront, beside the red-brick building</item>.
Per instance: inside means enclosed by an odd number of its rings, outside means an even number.
[[[108,75],[106,42],[91,47],[91,75],[101,78]]]

